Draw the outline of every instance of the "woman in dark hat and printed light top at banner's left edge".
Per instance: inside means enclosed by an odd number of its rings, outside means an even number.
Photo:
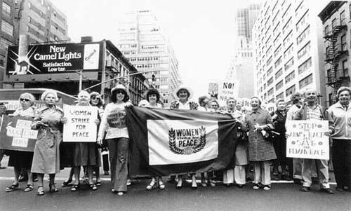
[[[125,107],[131,106],[126,88],[119,84],[111,90],[111,101],[106,105],[98,132],[98,144],[106,133],[110,151],[112,192],[119,196],[127,191],[128,179],[128,129]]]

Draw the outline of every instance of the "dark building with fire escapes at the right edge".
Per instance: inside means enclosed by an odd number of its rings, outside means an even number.
[[[340,86],[350,87],[351,2],[331,1],[319,13],[324,28],[327,104],[334,104]]]

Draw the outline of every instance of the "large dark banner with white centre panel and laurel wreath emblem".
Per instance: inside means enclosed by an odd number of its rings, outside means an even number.
[[[126,108],[132,177],[221,170],[233,165],[237,123],[202,111]]]

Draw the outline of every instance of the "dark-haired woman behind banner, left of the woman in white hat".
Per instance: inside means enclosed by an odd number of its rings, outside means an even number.
[[[162,108],[162,105],[157,103],[159,102],[159,91],[157,89],[151,88],[147,90],[146,100],[141,100],[139,102],[140,107],[150,107],[150,108]],[[149,185],[146,186],[148,191],[159,187],[159,189],[163,190],[165,188],[164,182],[162,182],[162,178],[160,176],[152,177]]]

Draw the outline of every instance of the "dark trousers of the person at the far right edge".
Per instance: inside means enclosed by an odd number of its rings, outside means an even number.
[[[351,188],[351,140],[333,139],[333,168],[336,185]]]

